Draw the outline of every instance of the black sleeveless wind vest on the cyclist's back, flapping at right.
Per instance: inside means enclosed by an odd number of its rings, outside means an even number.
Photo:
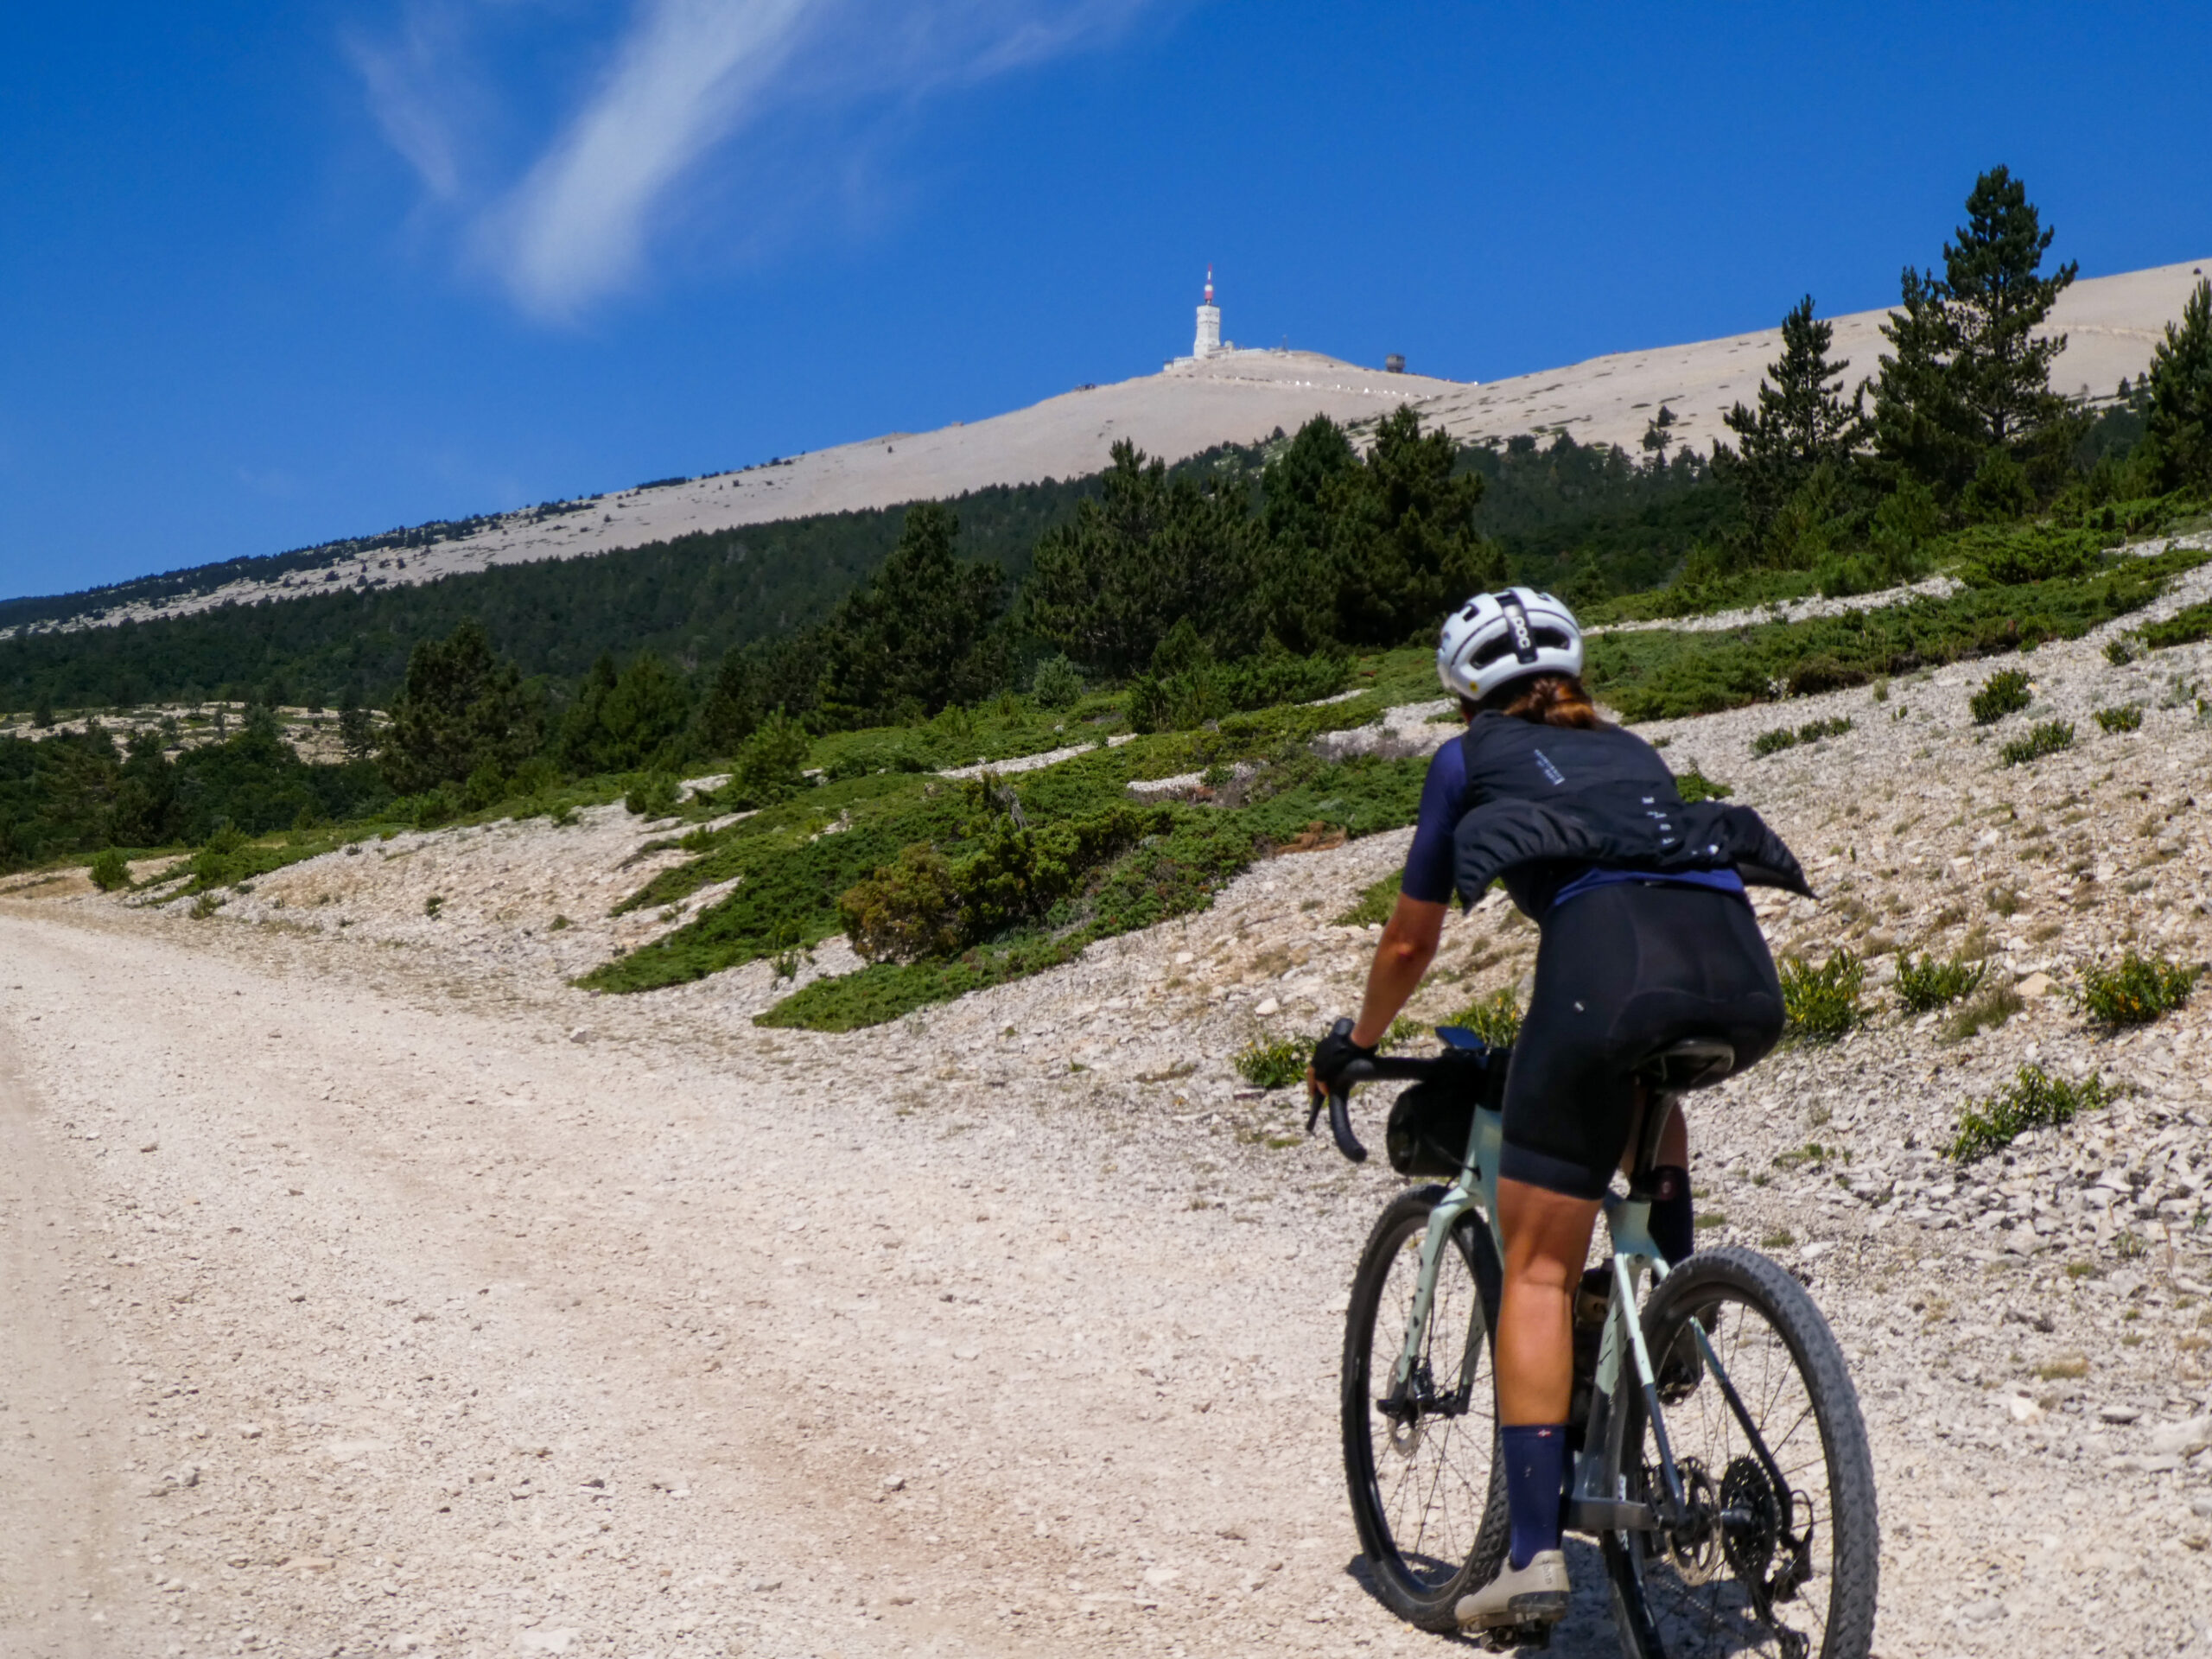
[[[1783,838],[1750,807],[1686,805],[1659,750],[1617,728],[1584,732],[1486,710],[1460,739],[1467,801],[1453,880],[1473,905],[1493,880],[1544,920],[1553,896],[1593,867],[1666,876],[1734,869],[1754,887],[1812,896]]]

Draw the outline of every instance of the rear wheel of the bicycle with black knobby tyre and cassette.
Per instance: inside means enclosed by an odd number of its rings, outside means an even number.
[[[1728,1387],[1692,1358],[1692,1318]],[[1750,1250],[1701,1252],[1652,1292],[1644,1340],[1690,1520],[1606,1540],[1621,1646],[1668,1659],[1865,1659],[1880,1542],[1874,1455],[1812,1296]],[[1628,1486],[1655,1500],[1659,1449],[1641,1389],[1624,1389],[1624,1405],[1626,1444],[1641,1449]]]

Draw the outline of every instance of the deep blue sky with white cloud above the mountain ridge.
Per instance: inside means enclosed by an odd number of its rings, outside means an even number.
[[[334,0],[0,20],[0,595],[1020,407],[2212,254],[2205,7]],[[1871,365],[1865,365],[1871,367]]]

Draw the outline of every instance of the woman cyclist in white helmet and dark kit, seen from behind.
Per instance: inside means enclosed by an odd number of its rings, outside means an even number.
[[[1604,721],[1582,686],[1582,628],[1548,593],[1478,593],[1436,648],[1467,732],[1420,794],[1398,905],[1345,1035],[1314,1075],[1374,1055],[1436,958],[1444,907],[1502,878],[1537,922],[1535,987],[1504,1093],[1498,1212],[1498,1422],[1513,1540],[1498,1577],[1462,1597],[1462,1626],[1566,1613],[1559,1498],[1573,1389],[1571,1290],[1597,1201],[1637,1108],[1635,1066],[1690,1035],[1734,1044],[1736,1068],[1781,1037],[1783,998],[1745,883],[1807,894],[1796,858],[1745,807],[1683,805],[1666,761]],[[1650,1232],[1670,1263],[1694,1248],[1688,1133],[1659,1146]]]

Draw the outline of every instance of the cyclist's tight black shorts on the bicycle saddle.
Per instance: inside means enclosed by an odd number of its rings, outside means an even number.
[[[1747,900],[1646,883],[1577,894],[1544,918],[1500,1175],[1601,1197],[1628,1146],[1639,1060],[1723,1037],[1743,1071],[1781,1033],[1783,989]]]

